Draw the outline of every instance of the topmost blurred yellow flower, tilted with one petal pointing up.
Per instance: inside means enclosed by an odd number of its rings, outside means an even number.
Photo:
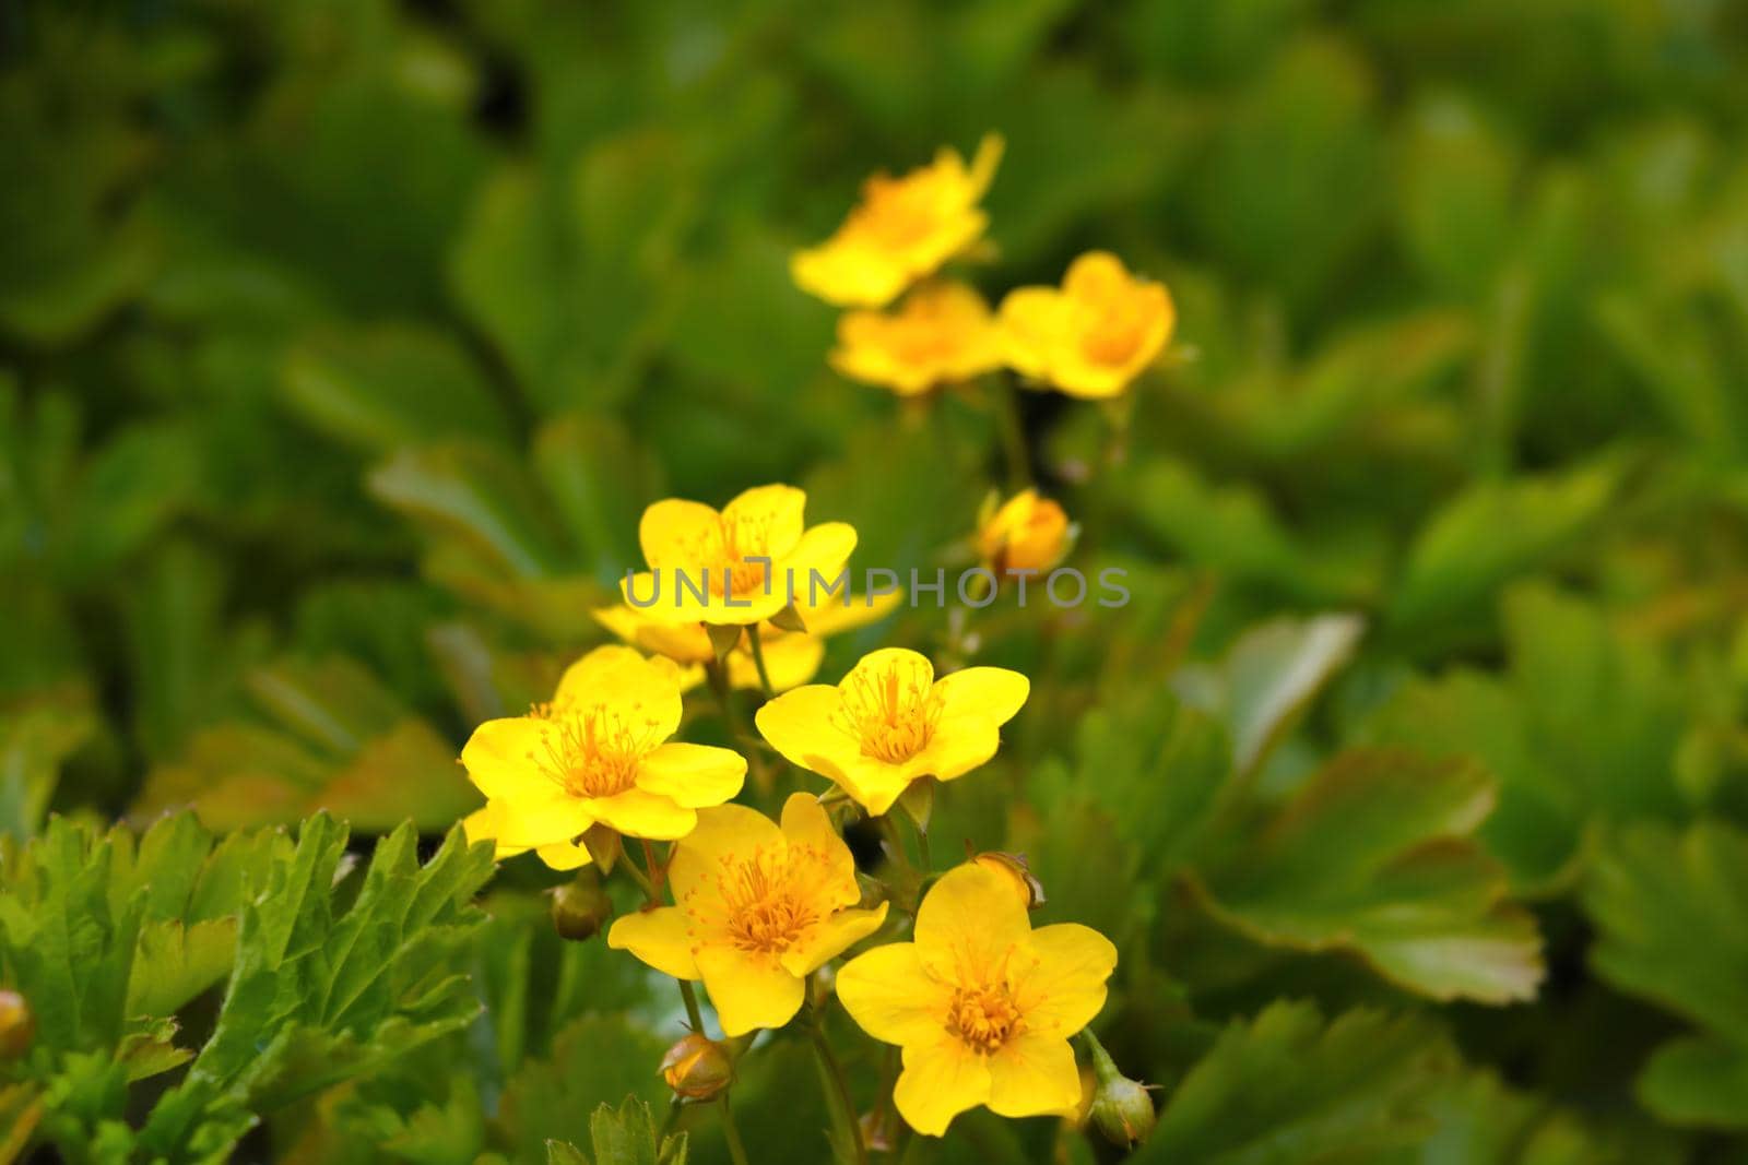
[[[839,307],[891,302],[982,238],[989,217],[977,203],[1000,161],[1002,138],[988,134],[970,166],[942,147],[902,178],[874,175],[837,232],[790,259],[797,286]]]

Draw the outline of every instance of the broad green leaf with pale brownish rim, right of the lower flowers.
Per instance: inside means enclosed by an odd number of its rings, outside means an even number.
[[[1353,950],[1432,999],[1510,1003],[1542,982],[1535,919],[1472,840],[1493,782],[1463,762],[1355,751],[1203,875],[1217,919],[1299,950]]]

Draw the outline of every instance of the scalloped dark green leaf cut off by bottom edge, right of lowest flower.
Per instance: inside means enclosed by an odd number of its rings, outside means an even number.
[[[1171,1092],[1134,1165],[1320,1165],[1412,1146],[1454,1055],[1416,1017],[1276,1003],[1222,1032]]]

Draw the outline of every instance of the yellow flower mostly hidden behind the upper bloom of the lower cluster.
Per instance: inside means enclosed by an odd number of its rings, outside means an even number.
[[[806,603],[806,589],[795,599],[795,613],[806,631],[785,631],[773,624],[759,624],[759,641],[764,648],[766,671],[771,674],[771,686],[776,692],[797,688],[820,671],[825,658],[825,639],[844,631],[864,627],[884,618],[898,606],[900,592],[879,596],[850,596],[848,599],[823,599],[818,604]],[[594,620],[626,643],[671,658],[680,665],[680,690],[687,692],[704,681],[704,665],[717,657],[717,648],[710,641],[710,632],[703,624],[666,624],[650,618],[647,611],[635,606],[608,606],[594,611]],[[759,669],[753,665],[746,636],[741,632],[739,643],[729,651],[729,685],[734,688],[760,688]]]

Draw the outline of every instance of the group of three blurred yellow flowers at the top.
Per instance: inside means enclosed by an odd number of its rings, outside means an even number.
[[[837,232],[794,257],[797,285],[853,309],[837,325],[834,369],[912,396],[1009,367],[1031,384],[1103,398],[1159,360],[1176,323],[1171,295],[1106,252],[1070,264],[1059,288],[1009,292],[998,313],[970,285],[939,276],[984,243],[979,203],[1000,159],[991,134],[970,166],[942,148],[902,178],[874,175]]]

